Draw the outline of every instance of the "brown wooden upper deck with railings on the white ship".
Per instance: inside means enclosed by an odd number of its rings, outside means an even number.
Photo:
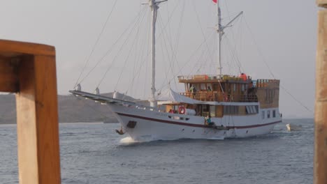
[[[189,75],[179,76],[189,98],[216,102],[260,102],[261,107],[278,107],[279,80],[250,76]],[[195,90],[191,89],[194,86]]]

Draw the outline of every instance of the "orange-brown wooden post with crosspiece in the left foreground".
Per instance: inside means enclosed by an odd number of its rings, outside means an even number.
[[[0,40],[0,91],[16,93],[20,183],[61,183],[54,47]]]

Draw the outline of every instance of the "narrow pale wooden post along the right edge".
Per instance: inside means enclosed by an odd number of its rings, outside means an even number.
[[[327,7],[327,0],[317,0]],[[314,114],[314,183],[327,183],[327,10],[318,13],[316,104]]]

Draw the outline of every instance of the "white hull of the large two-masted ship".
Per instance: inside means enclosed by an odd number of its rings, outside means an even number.
[[[228,128],[228,130],[217,130],[206,126],[202,116],[170,114],[123,105],[110,104],[109,106],[122,124],[124,132],[136,141],[252,137],[268,134],[276,123],[282,122],[280,116],[262,118],[263,110],[273,109],[259,109],[259,114],[251,116],[212,118],[212,122],[216,125]],[[278,108],[275,110],[279,115]],[[129,128],[129,122],[136,122],[135,127]]]

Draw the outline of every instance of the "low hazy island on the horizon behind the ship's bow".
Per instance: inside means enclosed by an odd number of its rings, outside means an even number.
[[[113,93],[103,93],[112,97]],[[136,99],[124,95],[125,100],[136,101]],[[107,105],[99,102],[76,98],[73,95],[58,95],[59,122],[118,122],[114,114],[110,112]],[[0,95],[0,124],[16,123],[15,95]]]

